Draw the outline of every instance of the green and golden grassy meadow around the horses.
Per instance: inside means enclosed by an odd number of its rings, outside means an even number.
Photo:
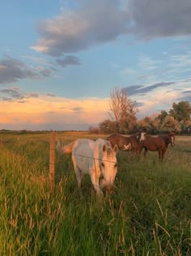
[[[163,163],[118,151],[101,203],[88,176],[79,197],[68,155],[56,154],[49,189],[49,132],[0,137],[0,255],[191,255],[191,137],[176,137]],[[57,132],[65,144],[79,137],[106,135]]]

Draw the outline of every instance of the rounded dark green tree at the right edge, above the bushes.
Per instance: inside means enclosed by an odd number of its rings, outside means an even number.
[[[189,102],[178,102],[172,104],[172,109],[169,111],[169,115],[172,115],[177,121],[189,121],[191,115],[191,106]]]

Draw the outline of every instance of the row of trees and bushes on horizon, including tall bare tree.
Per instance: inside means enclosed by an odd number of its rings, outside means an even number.
[[[110,93],[109,107],[108,119],[100,122],[97,127],[90,127],[89,132],[131,134],[144,128],[151,134],[191,134],[191,105],[187,101],[173,102],[169,111],[138,119],[137,103],[128,97],[125,90],[115,88]]]

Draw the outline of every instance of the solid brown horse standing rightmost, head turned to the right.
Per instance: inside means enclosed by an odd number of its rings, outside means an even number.
[[[163,156],[168,149],[168,144],[172,146],[175,145],[175,136],[173,133],[159,137],[151,137],[146,135],[146,140],[142,141],[142,147],[140,148],[139,154],[141,154],[142,149],[144,148],[144,157],[146,157],[146,152],[158,151],[159,152],[159,161],[163,161]]]

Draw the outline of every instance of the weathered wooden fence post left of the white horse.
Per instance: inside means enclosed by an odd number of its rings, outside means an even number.
[[[56,132],[50,132],[49,146],[49,188],[53,189],[55,184],[55,137]]]

